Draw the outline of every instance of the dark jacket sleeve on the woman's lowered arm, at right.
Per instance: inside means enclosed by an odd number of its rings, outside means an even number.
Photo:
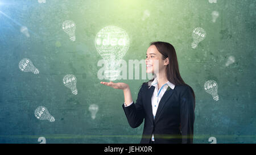
[[[180,124],[182,143],[193,143],[193,125],[195,121],[195,100],[189,87],[180,96]]]

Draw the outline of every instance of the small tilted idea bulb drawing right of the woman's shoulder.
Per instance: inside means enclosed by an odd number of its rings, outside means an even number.
[[[207,93],[212,95],[214,100],[218,100],[218,85],[217,82],[214,80],[208,80],[207,82],[204,83],[204,89]]]

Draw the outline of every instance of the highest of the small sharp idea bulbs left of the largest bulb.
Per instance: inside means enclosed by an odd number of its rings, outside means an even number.
[[[72,41],[76,41],[75,30],[76,24],[72,20],[65,20],[62,24],[62,29],[65,33],[69,35],[69,39]]]

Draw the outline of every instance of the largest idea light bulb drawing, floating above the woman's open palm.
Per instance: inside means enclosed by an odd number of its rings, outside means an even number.
[[[104,74],[110,81],[114,81],[119,76],[119,66],[129,45],[129,37],[122,28],[108,26],[97,33],[95,47],[105,60]]]

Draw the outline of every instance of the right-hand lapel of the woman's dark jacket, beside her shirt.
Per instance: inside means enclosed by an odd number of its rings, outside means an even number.
[[[158,120],[159,115],[161,114],[161,111],[163,110],[164,104],[166,104],[166,101],[171,97],[171,95],[173,93],[174,93],[174,90],[172,90],[172,89],[170,89],[170,87],[168,87],[168,89],[166,90],[166,92],[164,93],[163,97],[161,98],[161,100],[158,104],[158,110],[156,110],[155,120],[153,119],[155,122]],[[151,106],[151,111],[152,111],[152,106]]]

